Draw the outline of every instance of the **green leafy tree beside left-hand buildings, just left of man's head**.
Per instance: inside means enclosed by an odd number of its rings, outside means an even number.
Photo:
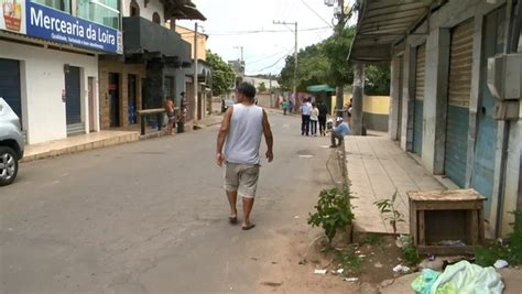
[[[236,74],[222,58],[207,50],[207,62],[213,69],[213,94],[220,96],[233,86]]]

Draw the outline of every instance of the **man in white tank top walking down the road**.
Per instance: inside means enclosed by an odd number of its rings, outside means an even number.
[[[267,159],[273,160],[273,138],[267,112],[254,105],[255,88],[241,83],[237,88],[238,104],[230,106],[222,118],[217,138],[216,163],[222,166],[225,162],[225,189],[230,204],[231,224],[238,221],[236,202],[239,196],[243,203],[242,229],[250,230],[255,225],[250,222],[250,213],[258,187],[259,178],[259,146],[261,137],[267,141]],[[222,146],[225,145],[225,154]]]

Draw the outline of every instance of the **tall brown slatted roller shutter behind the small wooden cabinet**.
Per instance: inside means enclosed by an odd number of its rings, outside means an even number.
[[[460,187],[466,182],[469,96],[471,90],[474,20],[452,30],[448,113],[446,129],[446,176]]]

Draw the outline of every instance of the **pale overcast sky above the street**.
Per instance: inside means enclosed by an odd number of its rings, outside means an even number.
[[[247,74],[279,74],[284,66],[285,56],[293,54],[294,33],[289,30],[293,30],[293,26],[273,24],[273,21],[298,23],[300,48],[320,42],[333,32],[330,26],[334,9],[325,6],[324,0],[193,2],[207,18],[207,21],[198,22],[209,35],[207,47],[229,61],[239,59],[240,50],[235,47],[243,46]],[[194,28],[192,21],[180,21],[178,24]],[[281,32],[247,33],[263,30]]]

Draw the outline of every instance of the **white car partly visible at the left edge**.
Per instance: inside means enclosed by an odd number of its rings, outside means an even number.
[[[0,97],[0,186],[17,178],[19,161],[23,157],[23,141],[19,117]]]

